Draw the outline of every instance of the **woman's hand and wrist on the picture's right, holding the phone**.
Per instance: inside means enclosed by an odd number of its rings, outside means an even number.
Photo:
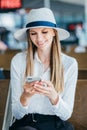
[[[51,81],[41,81],[39,83],[35,83],[34,88],[37,93],[47,96],[53,105],[57,104],[59,96]]]

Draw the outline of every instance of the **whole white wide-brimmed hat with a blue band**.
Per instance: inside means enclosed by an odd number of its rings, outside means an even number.
[[[27,41],[26,31],[30,28],[47,27],[58,31],[59,40],[70,36],[65,29],[57,27],[53,12],[49,8],[32,9],[27,17],[24,28],[15,32],[14,37],[19,41]]]

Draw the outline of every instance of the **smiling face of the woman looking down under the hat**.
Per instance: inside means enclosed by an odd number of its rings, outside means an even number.
[[[55,31],[51,28],[32,28],[29,31],[30,39],[38,49],[51,48]]]

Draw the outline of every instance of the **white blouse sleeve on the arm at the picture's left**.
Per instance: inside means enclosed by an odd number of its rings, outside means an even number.
[[[20,60],[21,59],[21,60]],[[20,96],[23,89],[23,73],[22,67],[24,66],[23,57],[20,54],[14,56],[11,61],[11,92],[12,92],[12,113],[16,119],[22,118],[27,114],[28,107],[22,106],[20,103]]]

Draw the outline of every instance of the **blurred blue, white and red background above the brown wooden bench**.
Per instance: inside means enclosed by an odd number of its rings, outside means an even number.
[[[69,45],[87,46],[86,6],[87,0],[0,0],[0,50],[26,48],[13,34],[25,25],[27,12],[38,7],[51,8],[58,26],[70,32],[70,37],[61,42],[66,49]]]

